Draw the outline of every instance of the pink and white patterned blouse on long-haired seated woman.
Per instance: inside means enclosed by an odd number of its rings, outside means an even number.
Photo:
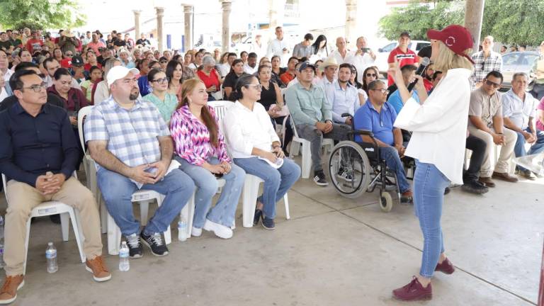
[[[215,111],[212,107],[207,107],[217,123]],[[217,131],[219,146],[216,148],[210,142],[210,131],[206,125],[189,111],[188,106],[183,106],[174,112],[170,119],[170,133],[174,140],[176,154],[190,164],[200,166],[212,156],[217,156],[220,162],[230,162],[225,137],[221,130]]]

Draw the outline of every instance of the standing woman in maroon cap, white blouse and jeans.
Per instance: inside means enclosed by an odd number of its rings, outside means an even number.
[[[443,78],[426,96],[423,79],[417,78],[417,103],[402,81],[398,63],[390,68],[404,107],[397,115],[396,128],[412,131],[405,155],[416,159],[414,174],[414,210],[423,232],[424,247],[419,276],[402,288],[393,290],[399,300],[429,300],[434,271],[451,274],[453,264],[444,253],[441,215],[444,189],[450,182],[463,184],[462,170],[467,136],[472,36],[466,28],[447,26],[429,30],[431,60]]]

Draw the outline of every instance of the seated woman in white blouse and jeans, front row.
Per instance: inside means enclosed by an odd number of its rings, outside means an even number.
[[[300,177],[300,166],[285,158],[268,113],[261,103],[256,103],[261,89],[256,77],[239,77],[233,93],[237,101],[225,114],[223,125],[234,164],[264,181],[263,194],[257,198],[254,225],[262,217],[263,227],[274,229],[276,203]],[[278,169],[271,166],[277,159],[283,159]]]

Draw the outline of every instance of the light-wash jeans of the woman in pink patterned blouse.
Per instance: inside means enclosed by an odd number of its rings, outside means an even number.
[[[206,219],[220,225],[225,225],[226,227],[232,226],[238,200],[242,193],[242,188],[244,188],[244,179],[246,177],[244,170],[235,164],[231,164],[232,168],[229,173],[222,176],[222,179],[225,179],[226,183],[223,186],[221,196],[210,210],[212,198],[217,193],[218,188],[215,175],[202,166],[193,165],[181,157],[176,156],[175,159],[181,164],[179,169],[188,176],[191,176],[197,188],[193,227],[202,228]],[[207,162],[209,164],[220,164],[217,157],[211,157]]]

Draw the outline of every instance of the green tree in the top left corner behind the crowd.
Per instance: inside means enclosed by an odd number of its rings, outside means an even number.
[[[0,0],[0,24],[4,28],[74,28],[86,16],[75,0]]]

